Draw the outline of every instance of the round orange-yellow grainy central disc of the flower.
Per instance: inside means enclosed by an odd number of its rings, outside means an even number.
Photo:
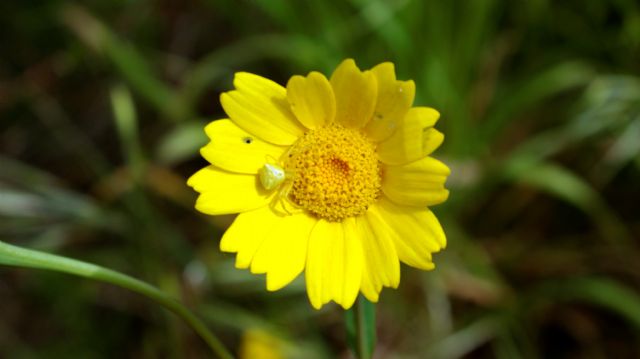
[[[358,130],[332,124],[307,132],[286,168],[293,174],[290,200],[328,221],[361,215],[380,195],[375,145]]]

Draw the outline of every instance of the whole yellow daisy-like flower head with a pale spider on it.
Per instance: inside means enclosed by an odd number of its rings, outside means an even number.
[[[400,262],[434,268],[446,239],[428,207],[449,196],[449,168],[429,157],[444,136],[436,110],[412,107],[413,81],[348,59],[329,80],[284,88],[241,72],[233,84],[220,97],[229,119],[205,128],[211,165],[188,184],[199,211],[240,213],[220,242],[237,268],[266,274],[270,291],[304,271],[313,307],[345,309],[397,288]]]

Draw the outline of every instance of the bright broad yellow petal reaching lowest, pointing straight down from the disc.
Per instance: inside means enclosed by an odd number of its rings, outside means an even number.
[[[311,231],[305,279],[314,308],[330,300],[343,308],[353,305],[362,278],[358,238],[345,236],[342,223],[319,220]]]

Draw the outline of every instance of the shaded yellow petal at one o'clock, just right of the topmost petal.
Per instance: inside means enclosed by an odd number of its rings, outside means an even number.
[[[393,134],[402,124],[404,116],[413,104],[416,85],[413,81],[397,81],[392,63],[377,65],[371,72],[376,77],[378,94],[373,119],[365,131],[378,142]]]

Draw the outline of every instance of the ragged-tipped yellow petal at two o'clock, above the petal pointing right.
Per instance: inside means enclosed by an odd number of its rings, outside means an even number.
[[[380,161],[400,165],[431,154],[444,140],[442,133],[432,128],[439,117],[438,111],[428,107],[409,110],[400,128],[378,144]]]

